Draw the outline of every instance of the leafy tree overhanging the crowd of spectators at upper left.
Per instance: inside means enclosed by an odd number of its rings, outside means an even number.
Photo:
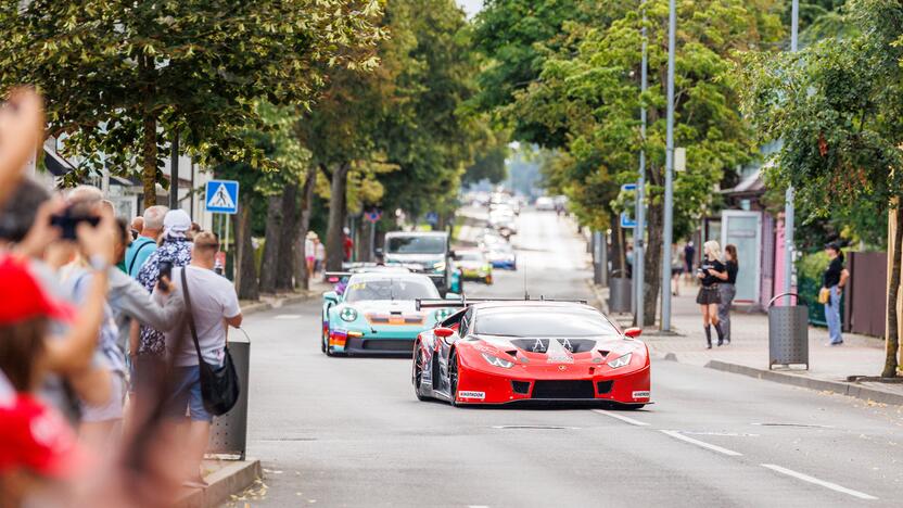
[[[140,167],[149,206],[176,135],[202,163],[265,164],[244,136],[255,101],[304,104],[330,65],[374,65],[348,49],[376,45],[379,13],[377,0],[2,2],[0,88],[37,85],[80,172]]]

